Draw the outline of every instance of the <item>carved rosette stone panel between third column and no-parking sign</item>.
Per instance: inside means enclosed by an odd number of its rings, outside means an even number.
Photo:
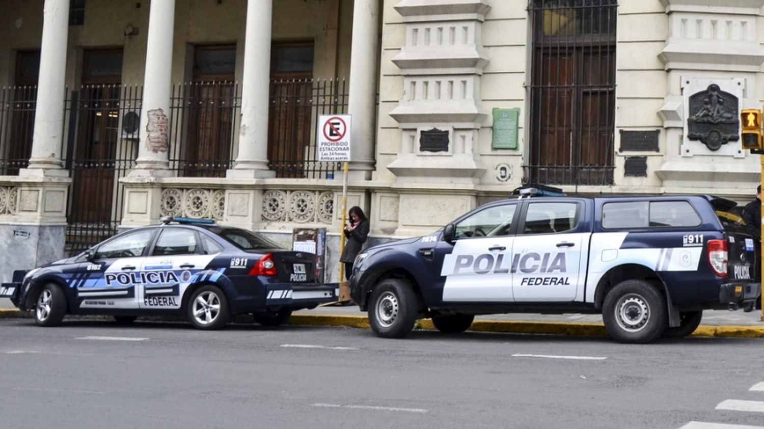
[[[334,192],[277,191],[263,194],[264,221],[332,224]]]

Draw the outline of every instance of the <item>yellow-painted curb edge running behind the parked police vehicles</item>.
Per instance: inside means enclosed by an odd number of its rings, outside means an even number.
[[[29,318],[31,314],[14,308],[0,308],[0,318]],[[249,320],[244,316],[237,321]],[[303,326],[343,326],[369,328],[369,320],[365,316],[348,316],[344,314],[292,314],[290,324]],[[416,321],[415,329],[435,331],[430,319]],[[490,321],[478,320],[472,323],[469,331],[499,332],[504,334],[551,334],[571,335],[579,337],[607,337],[604,324],[587,322],[543,322],[543,321]],[[764,338],[764,326],[753,325],[713,325],[701,324],[692,337],[734,337],[734,338]]]

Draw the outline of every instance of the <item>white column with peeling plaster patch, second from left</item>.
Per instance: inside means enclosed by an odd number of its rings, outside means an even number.
[[[170,176],[167,168],[174,27],[175,0],[152,1],[141,108],[141,143],[132,176]]]

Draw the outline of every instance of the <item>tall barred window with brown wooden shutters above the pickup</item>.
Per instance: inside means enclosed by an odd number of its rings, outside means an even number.
[[[617,0],[529,0],[525,181],[613,184]]]

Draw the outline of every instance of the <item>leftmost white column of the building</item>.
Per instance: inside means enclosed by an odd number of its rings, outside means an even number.
[[[61,163],[68,31],[69,0],[45,0],[32,153],[23,176],[68,176]]]

